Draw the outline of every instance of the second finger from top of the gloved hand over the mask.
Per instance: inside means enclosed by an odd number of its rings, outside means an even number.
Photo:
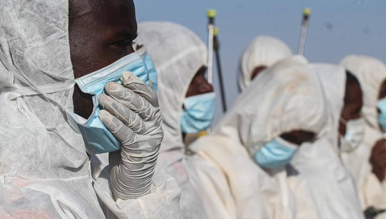
[[[144,121],[151,120],[156,112],[156,108],[149,101],[121,84],[108,82],[105,85],[105,91],[116,101],[141,116]]]

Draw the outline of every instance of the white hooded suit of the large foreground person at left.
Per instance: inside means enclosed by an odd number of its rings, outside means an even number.
[[[105,218],[83,138],[65,112],[73,110],[75,84],[68,1],[0,4],[0,217]],[[136,209],[129,218],[178,213],[178,186],[164,171],[155,174],[151,194],[110,204]]]

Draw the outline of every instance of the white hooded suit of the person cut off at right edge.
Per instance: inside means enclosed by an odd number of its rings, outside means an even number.
[[[386,66],[379,59],[369,56],[349,55],[340,63],[357,77],[363,92],[362,116],[366,120],[363,143],[358,150],[342,156],[345,165],[350,169],[361,197],[362,207],[386,209],[386,182],[380,183],[371,172],[369,158],[375,143],[385,138],[378,125],[378,95],[386,79]],[[386,218],[386,214],[383,214]]]

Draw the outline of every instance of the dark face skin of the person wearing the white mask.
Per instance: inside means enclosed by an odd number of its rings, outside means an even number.
[[[362,89],[359,84],[346,83],[344,106],[340,117],[346,121],[361,118],[362,96]],[[339,133],[340,135],[346,134],[346,125],[342,121],[339,121]]]

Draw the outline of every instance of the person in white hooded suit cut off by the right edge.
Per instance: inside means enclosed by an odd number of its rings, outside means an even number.
[[[363,89],[362,116],[366,120],[364,140],[347,160],[359,187],[362,207],[379,212],[386,209],[386,66],[368,56],[346,56],[341,65],[354,74]],[[357,164],[355,164],[357,163]],[[359,168],[361,167],[361,168]],[[377,218],[386,216],[382,214]]]

